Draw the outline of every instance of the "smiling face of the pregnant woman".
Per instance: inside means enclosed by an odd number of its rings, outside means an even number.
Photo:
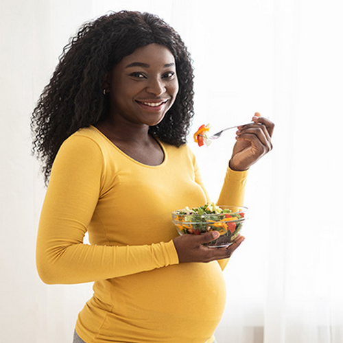
[[[178,93],[174,56],[163,45],[139,47],[113,68],[108,84],[112,119],[154,126]]]

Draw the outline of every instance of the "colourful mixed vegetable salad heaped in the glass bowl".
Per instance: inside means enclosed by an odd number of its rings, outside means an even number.
[[[234,211],[233,211],[234,209]],[[245,212],[237,206],[217,206],[213,203],[173,212],[173,222],[180,235],[191,233],[201,235],[216,230],[220,235],[233,240],[245,220]],[[235,237],[232,237],[234,234]]]

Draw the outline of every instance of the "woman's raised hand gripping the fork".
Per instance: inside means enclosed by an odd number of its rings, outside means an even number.
[[[274,123],[255,113],[252,123],[239,126],[237,142],[233,147],[230,168],[243,171],[250,168],[263,155],[272,150]]]

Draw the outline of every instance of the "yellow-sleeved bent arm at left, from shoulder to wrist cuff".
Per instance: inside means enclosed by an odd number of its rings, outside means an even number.
[[[84,283],[178,263],[173,241],[145,246],[83,244],[102,193],[104,157],[95,142],[73,137],[62,145],[38,228],[36,263],[45,283]]]

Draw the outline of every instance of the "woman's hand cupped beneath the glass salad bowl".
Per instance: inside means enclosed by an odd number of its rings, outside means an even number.
[[[179,262],[211,262],[217,259],[228,259],[245,239],[243,236],[237,237],[228,248],[207,248],[202,245],[219,236],[220,233],[212,231],[204,235],[182,235],[174,238]]]

